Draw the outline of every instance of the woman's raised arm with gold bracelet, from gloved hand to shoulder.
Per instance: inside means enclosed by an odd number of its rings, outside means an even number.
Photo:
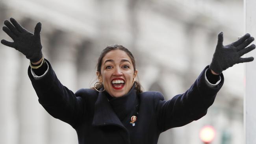
[[[39,103],[52,116],[74,127],[83,113],[84,101],[80,94],[74,94],[60,83],[49,61],[46,60],[46,63],[43,63],[41,23],[36,24],[34,34],[22,28],[14,18],[10,18],[10,22],[5,20],[4,24],[3,31],[13,39],[13,42],[3,39],[1,43],[15,48],[30,59],[32,65],[28,68],[28,75],[39,98]],[[42,65],[37,66],[40,63]]]

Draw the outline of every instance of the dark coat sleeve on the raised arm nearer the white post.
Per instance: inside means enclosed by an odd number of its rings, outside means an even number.
[[[221,82],[215,87],[210,86],[205,77],[205,71],[208,67],[206,66],[185,93],[178,94],[171,100],[165,101],[160,92],[155,93],[154,105],[160,131],[184,126],[207,113],[208,107],[213,104],[217,92],[224,83],[224,77],[221,74]]]

